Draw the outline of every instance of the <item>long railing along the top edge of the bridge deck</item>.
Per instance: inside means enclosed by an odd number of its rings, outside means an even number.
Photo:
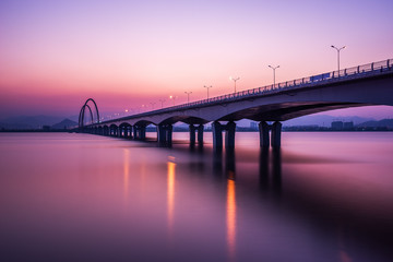
[[[379,61],[379,62],[372,62],[372,63],[367,63],[367,64],[362,64],[362,66],[358,66],[358,67],[347,68],[347,69],[343,69],[340,71],[332,71],[332,72],[322,73],[322,74],[318,74],[318,75],[311,75],[311,76],[307,76],[307,78],[302,78],[302,79],[290,80],[290,81],[277,83],[275,85],[273,85],[273,84],[265,85],[265,86],[255,87],[252,90],[246,90],[246,91],[240,91],[237,93],[212,97],[209,99],[186,103],[186,104],[181,104],[178,106],[172,106],[172,107],[167,107],[167,108],[157,109],[157,110],[153,110],[153,111],[142,112],[142,114],[123,117],[123,118],[119,118],[119,119],[112,119],[110,121],[129,119],[130,117],[136,118],[140,116],[156,115],[156,114],[172,111],[176,109],[194,108],[194,107],[199,107],[201,105],[210,105],[210,104],[217,104],[217,103],[224,103],[224,102],[229,102],[229,100],[237,100],[237,99],[242,99],[242,98],[249,97],[249,96],[271,95],[271,94],[279,93],[282,91],[301,88],[301,87],[312,86],[315,84],[322,84],[322,83],[326,83],[326,82],[331,82],[331,81],[342,81],[342,80],[347,80],[347,79],[349,80],[349,79],[356,79],[356,78],[364,78],[365,75],[382,73],[382,72],[391,71],[391,70],[393,70],[393,59],[388,59],[388,60],[383,60],[383,61]]]

